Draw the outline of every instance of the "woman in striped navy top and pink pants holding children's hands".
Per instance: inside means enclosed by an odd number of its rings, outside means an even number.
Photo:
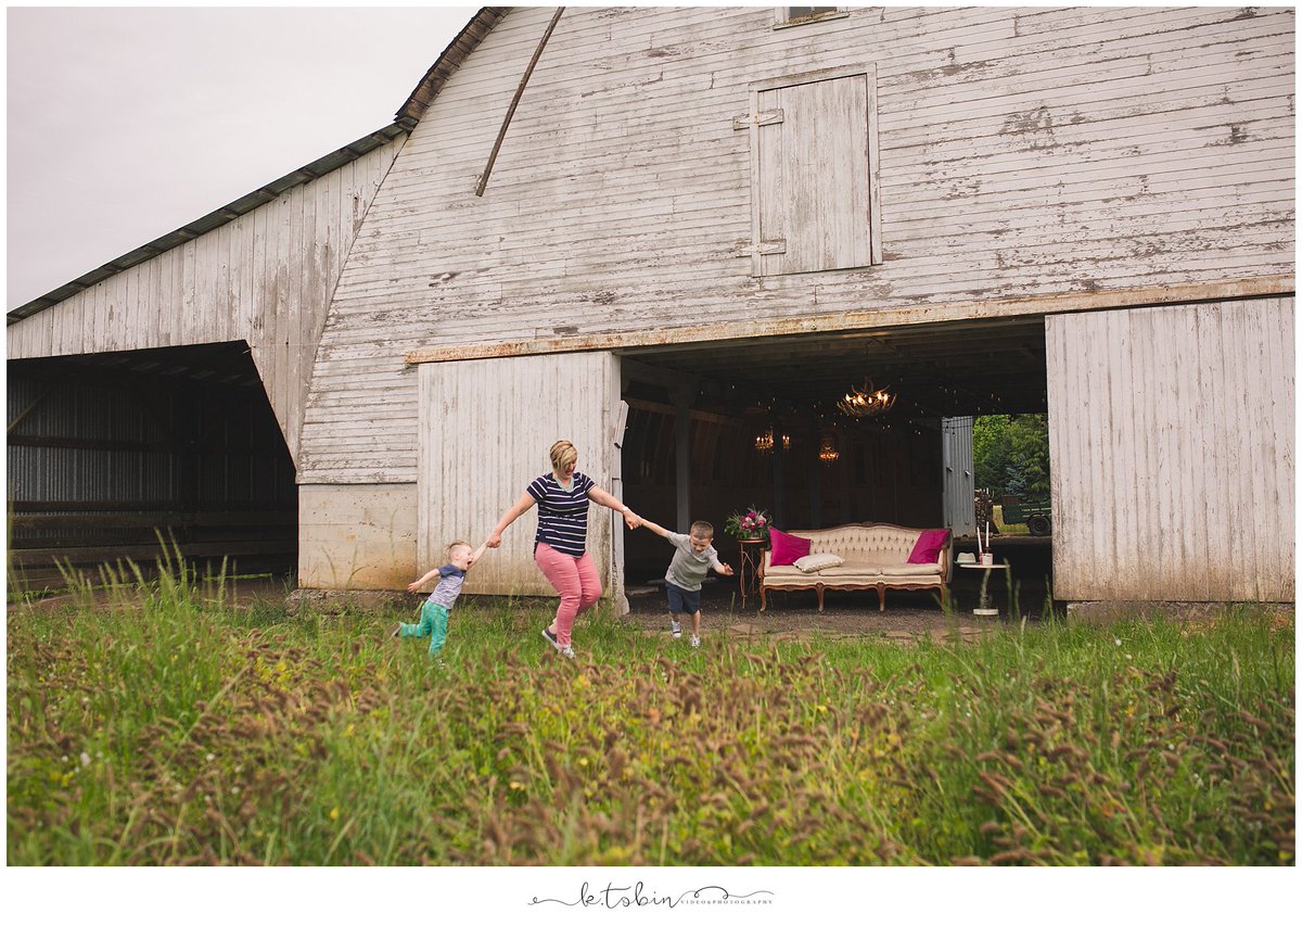
[[[552,444],[551,456],[552,471],[529,483],[519,501],[501,516],[487,543],[490,547],[500,547],[501,533],[512,521],[538,505],[534,561],[561,596],[556,620],[543,630],[543,636],[557,652],[573,659],[570,628],[574,626],[574,617],[596,604],[602,596],[602,578],[596,574],[592,555],[587,552],[589,503],[595,501],[620,512],[630,529],[642,524],[642,518],[590,478],[574,471],[578,465],[574,444],[557,440]]]

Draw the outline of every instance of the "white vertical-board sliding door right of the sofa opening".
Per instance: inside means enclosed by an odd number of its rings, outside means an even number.
[[[1055,595],[1293,600],[1293,300],[1046,322]]]

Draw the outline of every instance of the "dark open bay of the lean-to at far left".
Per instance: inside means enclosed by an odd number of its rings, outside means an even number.
[[[245,341],[9,361],[9,576],[57,563],[190,563],[289,574],[294,466]]]

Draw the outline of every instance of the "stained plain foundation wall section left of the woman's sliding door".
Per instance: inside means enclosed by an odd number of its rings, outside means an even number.
[[[424,572],[417,570],[415,538],[415,486],[298,490],[298,585],[305,589],[405,589]]]

